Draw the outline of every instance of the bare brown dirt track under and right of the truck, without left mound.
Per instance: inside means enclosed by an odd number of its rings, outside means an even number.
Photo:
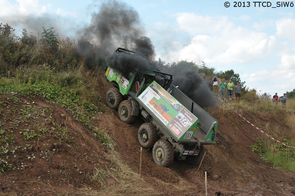
[[[107,91],[109,84],[101,79],[101,95]],[[103,97],[104,98],[104,97]],[[105,100],[104,100],[105,102]],[[117,116],[117,111],[112,110]],[[259,135],[255,129],[242,122],[232,112],[232,121],[228,122],[227,117],[219,112],[218,108],[211,110],[211,115],[219,120],[217,133],[217,145],[205,146],[206,155],[199,171],[201,156],[196,160],[178,161],[174,160],[169,168],[162,168],[153,162],[151,151],[143,151],[143,172],[146,177],[155,177],[165,182],[179,182],[179,177],[186,181],[188,195],[205,195],[204,193],[204,172],[207,171],[209,195],[295,195],[295,175],[272,168],[272,165],[263,162],[257,153],[253,153],[248,145],[253,145],[253,139]],[[255,114],[245,114],[247,119],[254,122]],[[106,120],[109,117],[106,117]],[[261,124],[266,124],[269,118],[261,120]],[[283,119],[276,119],[278,122]],[[122,156],[126,157],[129,165],[138,170],[140,145],[137,142],[137,130],[143,123],[138,120],[132,125],[127,125],[114,118],[114,123],[110,125],[112,134],[117,139],[119,150]],[[122,132],[118,132],[116,127],[120,126]],[[124,153],[124,152],[128,153]],[[129,161],[132,160],[132,161]],[[189,163],[187,163],[189,162]],[[218,175],[217,180],[212,179]],[[152,181],[151,181],[152,183]],[[161,189],[161,187],[160,187]],[[176,192],[167,192],[167,195],[176,195]],[[185,195],[180,193],[179,195]]]

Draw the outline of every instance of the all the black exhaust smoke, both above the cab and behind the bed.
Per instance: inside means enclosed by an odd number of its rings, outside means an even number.
[[[155,48],[144,35],[139,15],[125,3],[103,3],[99,11],[92,15],[91,24],[80,35],[81,53],[89,50],[91,41],[102,48],[116,49],[125,45],[136,51],[136,54],[113,53],[106,58],[107,65],[123,75],[127,75],[131,69],[140,73],[157,68],[151,63],[155,58]],[[201,107],[215,104],[209,85],[188,63],[178,63],[178,66],[171,67],[167,72],[173,75],[173,84]]]

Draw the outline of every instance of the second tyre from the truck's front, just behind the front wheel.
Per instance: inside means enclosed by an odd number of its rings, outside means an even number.
[[[130,100],[124,100],[118,108],[119,119],[128,124],[134,122],[136,116],[132,116],[132,103]]]

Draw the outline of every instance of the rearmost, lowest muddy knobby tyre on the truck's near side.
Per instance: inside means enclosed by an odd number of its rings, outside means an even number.
[[[167,167],[172,164],[174,152],[172,145],[166,140],[159,140],[153,147],[153,159],[157,165]]]

